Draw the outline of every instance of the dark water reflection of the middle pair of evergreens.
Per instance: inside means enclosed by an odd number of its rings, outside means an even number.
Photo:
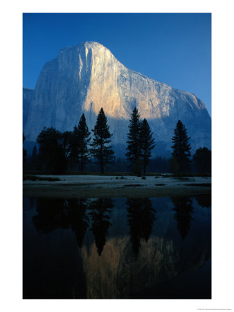
[[[155,220],[155,209],[149,198],[130,198],[126,201],[127,223],[131,236],[132,248],[136,256],[141,248],[141,241],[145,242],[150,238]]]

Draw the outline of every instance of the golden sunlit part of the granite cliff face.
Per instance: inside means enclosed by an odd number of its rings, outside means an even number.
[[[80,80],[82,74],[90,73],[84,111],[92,110],[98,114],[100,107],[103,107],[107,116],[129,119],[132,106],[136,105],[142,118],[169,116],[174,107],[176,90],[127,69],[109,49],[97,42],[86,42],[78,51]],[[188,101],[192,110],[205,109],[204,103],[193,94],[182,92],[179,96]]]

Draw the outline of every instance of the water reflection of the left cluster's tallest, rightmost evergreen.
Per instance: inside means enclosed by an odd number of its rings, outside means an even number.
[[[111,223],[110,213],[114,207],[113,200],[110,198],[98,198],[93,200],[89,209],[89,216],[91,216],[91,231],[95,239],[96,247],[99,256],[102,254],[103,247],[106,243],[106,236]]]

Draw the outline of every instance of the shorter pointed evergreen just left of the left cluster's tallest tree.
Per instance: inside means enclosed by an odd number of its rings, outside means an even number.
[[[78,127],[75,125],[70,144],[70,158],[73,159],[75,164],[79,163],[80,171],[84,170],[84,165],[89,159],[88,144],[91,140],[89,128],[87,126],[84,114],[80,117]]]

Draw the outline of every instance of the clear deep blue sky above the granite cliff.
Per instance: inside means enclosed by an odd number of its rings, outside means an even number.
[[[96,41],[125,67],[195,94],[211,114],[211,15],[26,13],[23,83],[35,88],[44,64],[65,46]]]

